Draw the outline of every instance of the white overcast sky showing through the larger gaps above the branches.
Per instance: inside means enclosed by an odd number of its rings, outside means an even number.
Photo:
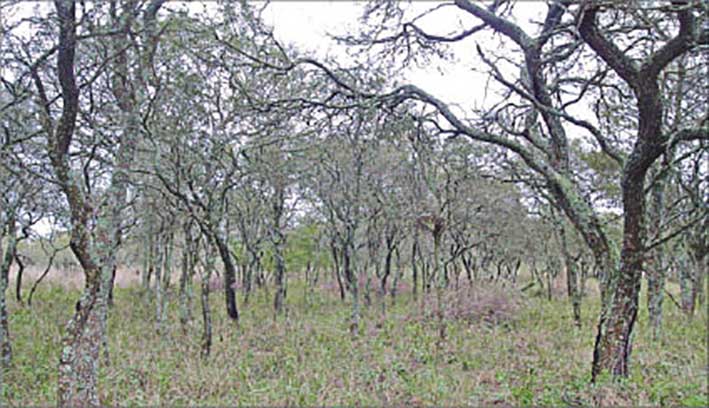
[[[407,4],[412,12],[419,14],[442,2],[417,1]],[[451,3],[448,1],[447,3]],[[345,57],[344,47],[328,37],[328,33],[345,34],[357,32],[359,16],[364,1],[274,1],[264,11],[266,23],[274,27],[274,34],[281,42],[296,44],[301,50],[318,57],[328,54]],[[517,22],[533,33],[530,20],[539,20],[546,11],[544,2],[521,2],[516,7]],[[421,20],[420,25],[430,33],[447,35],[462,31],[458,27],[471,28],[480,21],[457,7],[447,7],[433,12]],[[413,83],[433,95],[460,106],[468,111],[476,103],[482,103],[486,76],[473,72],[480,66],[475,44],[491,39],[490,31],[476,33],[452,47],[455,63],[433,64],[422,69],[412,69],[406,74],[406,82]],[[492,95],[490,95],[492,96]]]

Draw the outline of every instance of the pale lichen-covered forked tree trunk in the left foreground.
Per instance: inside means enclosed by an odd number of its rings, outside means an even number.
[[[148,6],[145,20],[154,20],[162,4],[154,0]],[[125,207],[128,167],[133,160],[139,132],[136,116],[131,106],[135,98],[132,82],[127,75],[126,49],[116,56],[115,71],[111,80],[123,115],[123,129],[114,159],[114,167],[103,204],[95,207],[91,192],[84,188],[72,168],[69,150],[76,128],[79,112],[79,86],[76,79],[75,52],[77,48],[76,3],[57,0],[59,28],[56,74],[62,101],[61,114],[53,117],[49,109],[44,80],[37,66],[30,73],[37,90],[39,113],[43,130],[47,135],[48,155],[57,184],[69,203],[71,222],[71,249],[78,259],[85,276],[83,294],[76,303],[74,315],[66,325],[61,342],[58,376],[59,406],[99,406],[97,381],[99,349],[105,342],[108,282],[116,262],[115,253],[120,242],[121,212]],[[134,10],[129,4],[120,17],[111,4],[111,17],[122,30],[117,40],[128,38]],[[129,10],[130,9],[130,10]],[[129,12],[126,12],[128,11]]]

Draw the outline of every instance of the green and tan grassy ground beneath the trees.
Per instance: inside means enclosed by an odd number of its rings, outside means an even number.
[[[306,304],[298,283],[289,290],[287,319],[274,322],[271,299],[261,294],[248,307],[240,305],[239,328],[226,321],[217,293],[215,343],[204,361],[199,320],[182,334],[173,302],[168,334],[160,338],[153,307],[137,289],[118,289],[101,400],[170,406],[709,405],[706,311],[688,321],[668,300],[665,335],[653,342],[643,308],[630,377],[591,385],[597,300],[585,299],[583,327],[576,329],[565,299],[513,301],[513,292],[484,293],[448,314],[441,344],[436,321],[408,294],[388,307],[386,319],[375,299],[353,340],[349,304],[329,294],[315,294]],[[0,405],[55,403],[58,343],[77,297],[77,291],[54,286],[41,289],[32,308],[10,302],[14,366],[5,375]]]

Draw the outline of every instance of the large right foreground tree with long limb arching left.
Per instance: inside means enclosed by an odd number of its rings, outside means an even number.
[[[624,55],[618,44],[632,41],[636,30],[640,29],[632,16],[633,11],[638,10],[635,7],[622,10],[608,8],[596,2],[577,7],[571,3],[552,2],[541,30],[536,37],[532,37],[511,18],[506,18],[504,10],[501,14],[496,13],[501,6],[499,2],[489,8],[467,0],[457,0],[455,5],[482,21],[483,26],[472,27],[452,36],[441,36],[429,34],[414,22],[407,22],[399,24],[392,35],[386,36],[383,34],[386,33],[386,27],[378,25],[368,37],[365,35],[357,41],[351,39],[350,42],[370,47],[390,45],[396,49],[401,42],[414,39],[416,44],[426,45],[421,46],[421,49],[435,51],[437,44],[461,41],[483,27],[489,27],[511,41],[521,52],[522,59],[517,65],[521,74],[517,80],[509,80],[496,64],[496,60],[490,58],[489,51],[485,52],[478,47],[480,59],[489,67],[492,78],[499,82],[503,89],[507,89],[509,95],[521,99],[522,109],[518,109],[518,105],[503,102],[497,109],[481,112],[477,121],[471,121],[455,114],[445,102],[414,85],[401,86],[387,95],[370,95],[362,91],[353,94],[360,97],[394,99],[395,102],[421,101],[433,107],[449,126],[444,128],[437,125],[438,129],[503,147],[516,154],[526,166],[543,177],[557,205],[593,252],[596,264],[609,271],[610,279],[604,291],[607,295],[604,296],[594,352],[593,378],[604,370],[611,371],[614,375],[626,376],[644,259],[646,174],[652,163],[666,149],[668,142],[692,140],[702,137],[705,132],[706,123],[701,121],[697,126],[690,125],[672,134],[663,130],[664,102],[658,84],[659,75],[670,62],[690,52],[698,44],[707,42],[707,32],[697,17],[701,6],[681,3],[656,10],[657,14],[666,19],[671,15],[677,16],[676,20],[669,21],[676,22],[673,24],[678,27],[678,34],[670,36],[662,32],[644,38],[632,43],[630,50],[626,50]],[[384,2],[373,3],[369,12],[373,14],[379,11],[384,17],[380,20],[385,23],[395,20],[394,17],[398,17],[401,22],[404,14],[397,13],[396,10],[397,7]],[[609,10],[619,18],[609,19],[599,27],[597,17],[603,10]],[[570,19],[564,19],[569,15]],[[575,27],[578,27],[578,33],[574,31]],[[616,30],[619,27],[622,29]],[[668,26],[662,28],[668,29]],[[612,36],[604,35],[606,31],[613,33]],[[579,41],[579,36],[583,42]],[[599,71],[592,75],[590,80],[579,81],[574,77],[567,77],[567,73],[582,69],[581,59],[576,56],[583,55],[584,45],[600,58],[603,65],[599,65]],[[417,49],[407,50],[413,53]],[[509,58],[498,60],[509,61]],[[623,151],[623,145],[618,145],[612,138],[604,135],[591,121],[568,111],[570,106],[584,99],[589,89],[599,86],[599,78],[606,77],[611,71],[632,89],[637,101],[637,130],[627,151]],[[342,80],[339,82],[342,83]],[[562,85],[568,86],[562,88]],[[570,95],[568,98],[561,96],[562,89]],[[522,113],[520,116],[524,120],[514,119],[511,115],[514,112]],[[541,124],[544,127],[541,127]],[[623,169],[619,179],[624,233],[619,258],[608,240],[598,214],[584,198],[581,186],[570,167],[567,124],[584,129],[592,136],[591,141]]]

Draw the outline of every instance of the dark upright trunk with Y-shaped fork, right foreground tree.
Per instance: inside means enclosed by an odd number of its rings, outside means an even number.
[[[620,267],[611,278],[609,299],[604,302],[594,347],[592,377],[609,371],[627,376],[632,333],[638,312],[638,296],[645,258],[645,180],[650,166],[665,152],[663,95],[659,74],[677,57],[696,45],[697,24],[690,7],[675,13],[679,32],[638,64],[623,54],[598,27],[599,4],[584,7],[579,32],[594,52],[633,90],[638,109],[637,136],[623,166],[623,243]],[[705,39],[706,40],[706,39]]]

